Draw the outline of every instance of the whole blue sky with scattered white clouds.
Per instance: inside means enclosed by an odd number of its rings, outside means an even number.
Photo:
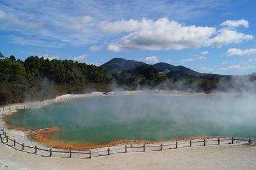
[[[198,72],[256,72],[256,1],[0,0],[0,50],[102,65],[112,58]]]

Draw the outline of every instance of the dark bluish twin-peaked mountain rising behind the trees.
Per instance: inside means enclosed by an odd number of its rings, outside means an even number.
[[[117,72],[120,72],[122,70],[127,70],[129,68],[136,68],[137,66],[141,66],[141,65],[148,65],[148,64],[143,63],[141,61],[127,60],[124,58],[113,58],[101,66],[103,66],[107,70],[111,70],[111,71],[116,70]],[[168,69],[171,71],[182,71],[184,73],[200,74],[198,72],[195,72],[194,70],[186,68],[185,66],[173,66],[168,63],[156,63],[155,65],[148,65],[148,66],[153,66],[154,68],[156,68],[158,72],[164,72],[164,70]]]

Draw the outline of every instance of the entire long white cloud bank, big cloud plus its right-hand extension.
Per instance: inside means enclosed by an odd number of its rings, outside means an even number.
[[[232,21],[232,20],[230,20]],[[234,21],[236,22],[236,21]],[[224,24],[225,25],[225,24]],[[127,32],[118,42],[110,44],[118,51],[127,50],[181,50],[202,46],[227,45],[252,40],[252,35],[225,27],[216,31],[215,27],[184,26],[175,20],[161,18],[150,20],[121,20],[102,22],[101,29],[108,33]],[[202,55],[208,54],[207,51]]]

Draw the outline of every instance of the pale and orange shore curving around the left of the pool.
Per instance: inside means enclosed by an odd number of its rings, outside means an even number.
[[[10,104],[5,105],[0,111],[0,127],[7,128],[8,134],[11,134],[11,137],[13,139],[16,139],[17,141],[21,138],[24,143],[34,144],[46,147],[52,147],[52,148],[59,148],[61,150],[88,150],[88,149],[95,149],[95,148],[105,148],[109,146],[115,146],[115,145],[124,145],[129,144],[129,139],[122,139],[117,141],[111,141],[107,144],[100,144],[100,145],[84,145],[84,144],[78,144],[78,145],[67,145],[67,144],[61,144],[61,143],[55,143],[51,139],[49,139],[49,136],[51,133],[54,133],[58,131],[58,127],[49,127],[44,129],[29,129],[29,128],[22,128],[22,127],[10,127],[6,125],[6,122],[3,119],[3,116],[6,114],[12,114],[13,112],[17,111],[18,109],[30,109],[30,108],[40,108],[45,107],[49,104],[54,104],[58,102],[67,102],[68,100],[76,99],[76,98],[84,98],[84,97],[100,97],[100,96],[112,96],[112,95],[136,95],[138,93],[153,93],[153,95],[171,95],[171,96],[195,96],[195,97],[218,97],[218,95],[214,94],[205,94],[205,93],[186,93],[181,91],[114,91],[109,93],[104,92],[93,92],[90,94],[82,94],[82,95],[62,95],[59,97],[56,97],[51,100],[44,100],[42,102],[26,102],[23,104]],[[5,110],[4,110],[5,108]],[[7,109],[8,108],[8,109]],[[6,110],[7,109],[7,110]],[[18,139],[17,139],[18,138]],[[189,139],[209,139],[209,138],[216,138],[211,136],[204,136],[204,138],[200,137],[186,137],[182,139],[170,139],[167,141],[134,141],[134,144],[141,144],[141,143],[149,143],[149,144],[157,144],[157,143],[167,143],[168,141],[182,141],[182,140],[189,140]],[[31,140],[32,139],[32,140]]]

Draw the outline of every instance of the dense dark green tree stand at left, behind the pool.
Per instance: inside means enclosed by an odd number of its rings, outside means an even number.
[[[0,59],[0,105],[102,90],[110,80],[111,72],[102,66],[37,56],[21,61],[10,56]]]

